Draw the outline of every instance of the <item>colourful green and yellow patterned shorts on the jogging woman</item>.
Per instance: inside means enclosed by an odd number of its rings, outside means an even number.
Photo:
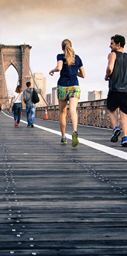
[[[80,87],[75,86],[57,86],[57,97],[59,100],[68,101],[70,98],[80,99]]]

